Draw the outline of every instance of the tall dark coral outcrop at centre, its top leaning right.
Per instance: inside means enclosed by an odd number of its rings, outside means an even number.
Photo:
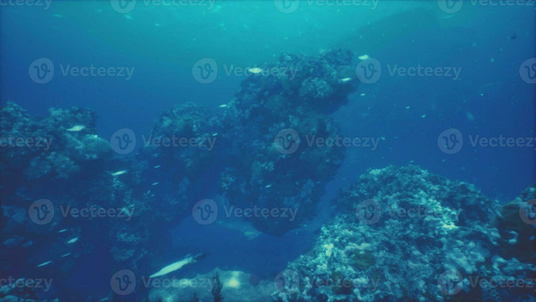
[[[293,76],[289,72],[250,76],[227,104],[224,124],[233,149],[220,179],[222,192],[232,202],[248,201],[241,207],[298,210],[293,221],[251,219],[259,231],[281,234],[316,215],[323,187],[338,170],[344,153],[310,141],[338,135],[327,114],[355,90],[351,59],[348,50],[340,49],[322,51],[319,57],[284,53],[277,64],[262,67],[291,70]],[[280,152],[274,143],[284,129],[299,136],[293,152]]]

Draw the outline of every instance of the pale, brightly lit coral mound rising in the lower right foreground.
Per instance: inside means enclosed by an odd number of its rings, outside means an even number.
[[[521,201],[532,196],[527,190]],[[511,230],[533,229],[517,204],[516,217],[474,186],[418,166],[370,170],[333,204],[338,215],[322,227],[312,251],[276,276],[273,301],[534,297],[534,250],[512,252],[534,244],[528,233],[517,237],[521,243],[511,241]],[[490,223],[497,217],[503,218]],[[510,227],[496,228],[504,224]]]

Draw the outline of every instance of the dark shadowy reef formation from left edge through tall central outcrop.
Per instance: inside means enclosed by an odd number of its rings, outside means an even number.
[[[308,145],[303,136],[337,135],[329,114],[355,90],[351,58],[339,49],[283,54],[262,66],[279,72],[254,72],[226,106],[187,103],[163,112],[133,157],[96,135],[92,109],[50,108],[42,117],[7,102],[0,111],[0,271],[46,271],[61,280],[81,255],[99,253],[110,270],[147,274],[176,256],[166,231],[214,188],[236,207],[299,209],[292,220],[251,219],[260,231],[299,227],[316,215],[344,158],[340,148]],[[293,152],[286,133],[277,142],[288,129],[297,134]]]

